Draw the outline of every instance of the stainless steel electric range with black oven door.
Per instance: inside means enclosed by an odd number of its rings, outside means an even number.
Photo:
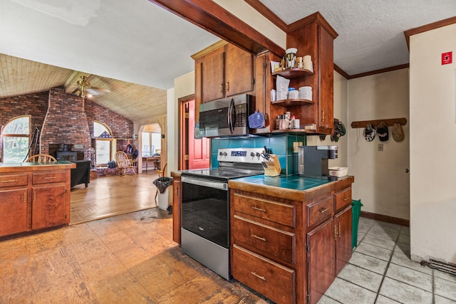
[[[182,251],[229,280],[228,180],[264,174],[262,148],[219,149],[217,169],[182,172]]]

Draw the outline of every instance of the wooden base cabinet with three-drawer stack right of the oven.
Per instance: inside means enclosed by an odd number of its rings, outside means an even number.
[[[317,303],[351,258],[353,181],[304,192],[230,181],[233,278],[276,303]]]

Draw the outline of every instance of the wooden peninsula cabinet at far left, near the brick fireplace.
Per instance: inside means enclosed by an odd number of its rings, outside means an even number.
[[[0,238],[70,222],[73,162],[0,164]]]

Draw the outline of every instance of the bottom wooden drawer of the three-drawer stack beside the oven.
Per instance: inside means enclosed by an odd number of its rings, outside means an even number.
[[[275,303],[296,303],[293,269],[237,245],[233,246],[232,276]]]

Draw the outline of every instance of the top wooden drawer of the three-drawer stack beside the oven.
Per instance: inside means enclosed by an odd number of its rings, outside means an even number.
[[[234,211],[250,214],[260,219],[267,219],[290,227],[296,226],[296,209],[293,205],[235,193],[232,208]]]

